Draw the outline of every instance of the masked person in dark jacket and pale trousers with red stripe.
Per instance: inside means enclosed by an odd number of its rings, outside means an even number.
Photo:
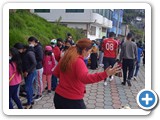
[[[35,80],[35,94],[36,96],[34,97],[35,101],[38,101],[42,98],[42,91],[43,91],[43,81],[42,81],[42,74],[43,74],[43,66],[42,66],[42,61],[43,61],[43,48],[40,45],[39,41],[35,37],[29,37],[28,38],[28,43],[29,45],[32,45],[34,47],[35,55],[36,55],[36,71],[37,71],[37,76]]]

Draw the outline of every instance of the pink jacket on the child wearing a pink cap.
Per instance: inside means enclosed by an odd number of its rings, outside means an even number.
[[[54,55],[52,56],[45,55],[43,58],[43,74],[51,75],[54,67],[55,67]]]

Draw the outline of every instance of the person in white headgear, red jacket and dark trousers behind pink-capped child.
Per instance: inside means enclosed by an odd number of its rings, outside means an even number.
[[[60,60],[60,54],[61,51],[59,49],[59,47],[57,46],[57,40],[56,39],[52,39],[51,40],[51,47],[52,47],[52,52],[54,53],[55,59],[56,59],[56,65],[58,64],[59,60]],[[54,75],[52,75],[52,90],[54,91],[57,87],[57,77],[55,77]]]

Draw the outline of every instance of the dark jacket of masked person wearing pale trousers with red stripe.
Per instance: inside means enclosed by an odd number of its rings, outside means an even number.
[[[36,69],[41,69],[42,66],[42,61],[43,61],[43,48],[41,45],[37,45],[34,47],[34,51],[36,54],[36,61],[37,61],[37,66]]]

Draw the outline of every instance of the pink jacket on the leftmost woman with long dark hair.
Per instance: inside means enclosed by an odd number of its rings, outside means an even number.
[[[13,66],[12,66],[13,65]],[[12,62],[12,65],[9,64],[9,78],[14,75],[13,79],[9,82],[9,86],[14,86],[22,82],[22,76],[17,72],[16,63]]]

